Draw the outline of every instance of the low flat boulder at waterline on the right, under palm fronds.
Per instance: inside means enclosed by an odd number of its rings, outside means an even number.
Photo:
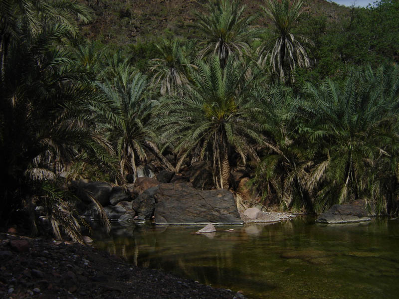
[[[352,204],[335,204],[327,212],[321,214],[317,219],[317,223],[354,223],[372,220],[367,216],[365,209]]]

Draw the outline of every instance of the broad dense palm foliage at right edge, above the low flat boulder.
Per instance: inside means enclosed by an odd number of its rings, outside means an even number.
[[[304,92],[297,105],[306,116],[316,211],[364,198],[386,212],[387,194],[398,196],[398,67],[352,69],[342,88],[327,80]]]

